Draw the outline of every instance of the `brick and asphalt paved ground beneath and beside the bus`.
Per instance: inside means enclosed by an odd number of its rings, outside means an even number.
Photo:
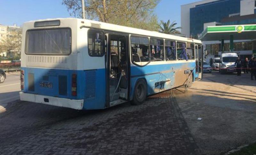
[[[12,102],[0,113],[0,154],[221,154],[256,139],[254,82],[213,72],[186,93],[97,111]]]

